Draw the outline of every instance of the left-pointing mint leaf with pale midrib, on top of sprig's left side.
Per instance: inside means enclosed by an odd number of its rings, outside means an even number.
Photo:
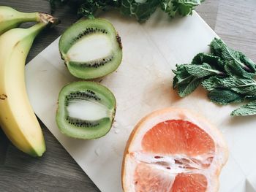
[[[189,74],[197,78],[207,77],[213,74],[223,74],[216,69],[213,69],[209,64],[202,64],[202,65],[185,65],[184,68],[187,70]]]

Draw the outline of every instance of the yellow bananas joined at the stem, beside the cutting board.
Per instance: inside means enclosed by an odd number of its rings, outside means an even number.
[[[15,28],[27,21],[38,23]],[[25,62],[37,34],[56,23],[45,13],[0,6],[0,127],[13,145],[32,156],[45,152],[45,140],[26,93]]]

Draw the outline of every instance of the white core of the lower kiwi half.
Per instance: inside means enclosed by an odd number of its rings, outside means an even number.
[[[69,102],[67,113],[70,118],[80,120],[100,120],[110,116],[110,110],[103,104],[79,99]]]

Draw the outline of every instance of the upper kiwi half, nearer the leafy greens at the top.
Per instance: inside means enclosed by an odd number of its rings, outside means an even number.
[[[121,38],[105,19],[80,20],[67,28],[59,51],[69,72],[84,80],[115,71],[122,58]]]

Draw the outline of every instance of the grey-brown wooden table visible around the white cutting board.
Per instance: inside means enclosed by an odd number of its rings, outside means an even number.
[[[24,12],[50,12],[46,0],[1,0],[0,5]],[[197,12],[228,45],[256,61],[255,9],[255,0],[206,0]],[[61,24],[37,37],[27,61],[78,19],[69,7],[58,9],[54,15],[61,19]],[[0,191],[99,191],[50,131],[41,125],[47,145],[42,158],[21,153],[0,130]]]

